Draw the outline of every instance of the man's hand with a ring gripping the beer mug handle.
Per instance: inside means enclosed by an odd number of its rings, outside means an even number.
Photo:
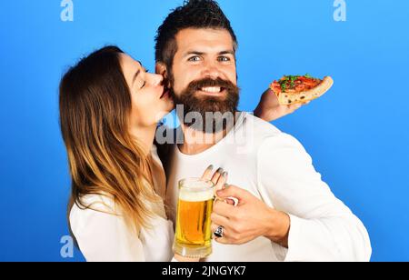
[[[230,205],[216,200],[212,218],[212,231],[222,225],[224,237],[215,238],[221,244],[242,245],[259,236],[264,236],[273,242],[288,247],[290,230],[289,215],[274,210],[249,192],[229,185],[217,192],[221,198],[235,197],[238,205]]]

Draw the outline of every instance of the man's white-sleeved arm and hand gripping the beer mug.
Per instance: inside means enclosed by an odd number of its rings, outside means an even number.
[[[288,247],[285,261],[369,261],[364,225],[333,195],[292,136],[264,140],[257,173],[263,201],[238,187],[218,194],[236,196],[239,204],[214,205],[212,229],[225,227],[217,242],[239,245],[264,236]]]

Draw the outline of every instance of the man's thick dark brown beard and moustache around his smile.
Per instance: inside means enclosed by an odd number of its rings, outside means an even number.
[[[171,84],[174,84],[173,77]],[[203,87],[221,87],[225,96],[197,95]],[[240,89],[230,81],[221,78],[205,78],[191,82],[182,93],[170,94],[175,105],[183,105],[177,115],[184,125],[206,134],[218,133],[234,125],[235,113],[239,103]],[[180,107],[179,107],[180,108]],[[207,113],[207,114],[206,114]]]

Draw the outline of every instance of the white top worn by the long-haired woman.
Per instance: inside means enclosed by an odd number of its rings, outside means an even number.
[[[154,163],[154,185],[158,195],[165,195],[165,174],[163,166],[152,150]],[[88,262],[168,262],[172,260],[174,230],[167,220],[164,204],[152,205],[157,216],[150,221],[152,229],[142,229],[139,235],[130,231],[124,219],[117,213],[112,199],[101,195],[87,195],[85,205],[95,210],[82,210],[74,205],[70,212],[70,224],[81,252]],[[111,213],[103,213],[103,212]]]

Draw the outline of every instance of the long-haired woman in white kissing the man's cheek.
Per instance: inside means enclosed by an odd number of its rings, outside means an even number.
[[[61,81],[60,125],[72,178],[69,222],[88,261],[172,259],[165,172],[153,145],[158,121],[174,106],[162,80],[107,46]]]

